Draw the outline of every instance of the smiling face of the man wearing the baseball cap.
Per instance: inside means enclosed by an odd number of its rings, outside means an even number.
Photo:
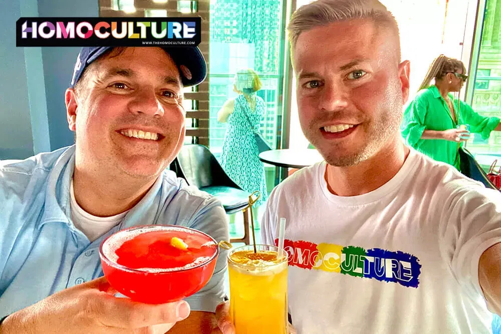
[[[93,62],[77,92],[66,93],[76,164],[89,173],[156,177],[185,132],[182,85],[160,48],[127,48]]]

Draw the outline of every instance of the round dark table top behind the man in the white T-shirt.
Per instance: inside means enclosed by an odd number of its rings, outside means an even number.
[[[261,152],[259,158],[263,162],[284,168],[303,168],[324,160],[315,149],[270,150]]]

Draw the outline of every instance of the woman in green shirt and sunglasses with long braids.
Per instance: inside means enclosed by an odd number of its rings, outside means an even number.
[[[419,92],[406,108],[401,126],[402,136],[409,146],[458,170],[458,148],[469,139],[470,132],[487,139],[492,130],[501,131],[499,118],[480,116],[450,94],[459,92],[468,78],[465,73],[461,61],[444,55],[436,58]],[[435,84],[429,86],[433,78]],[[464,126],[457,128],[458,125]]]

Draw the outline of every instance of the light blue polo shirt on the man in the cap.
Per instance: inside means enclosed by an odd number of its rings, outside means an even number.
[[[102,276],[99,246],[118,230],[173,224],[229,238],[219,201],[166,170],[120,224],[90,242],[71,220],[74,166],[74,146],[0,166],[0,317]],[[213,312],[223,300],[227,254],[220,250],[210,281],[186,299],[192,310]]]

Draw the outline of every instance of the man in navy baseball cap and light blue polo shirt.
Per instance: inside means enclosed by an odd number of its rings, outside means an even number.
[[[136,225],[228,239],[220,203],[166,170],[184,141],[183,87],[206,73],[197,48],[81,50],[65,94],[75,145],[0,165],[0,332],[210,332],[224,252],[199,292],[160,305],[114,296],[99,259],[105,237]]]

